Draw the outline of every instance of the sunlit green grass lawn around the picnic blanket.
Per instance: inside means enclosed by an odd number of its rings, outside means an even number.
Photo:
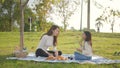
[[[43,32],[25,32],[24,44],[28,51],[38,45]],[[114,52],[120,52],[119,33],[92,33],[94,54],[110,59],[120,59]],[[79,47],[81,32],[61,32],[58,37],[58,49],[63,53],[74,53]],[[34,61],[6,60],[13,56],[15,46],[19,45],[19,32],[0,32],[0,68],[120,68],[120,64],[75,64],[75,63],[41,63]]]

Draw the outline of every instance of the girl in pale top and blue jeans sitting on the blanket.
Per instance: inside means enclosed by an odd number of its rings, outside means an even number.
[[[90,60],[92,58],[92,40],[91,40],[91,33],[89,31],[84,31],[82,35],[82,42],[80,43],[81,48],[77,48],[77,51],[82,52],[75,52],[75,59],[76,60]]]

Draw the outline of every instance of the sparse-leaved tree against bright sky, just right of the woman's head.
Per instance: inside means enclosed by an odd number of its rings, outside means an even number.
[[[56,14],[62,19],[62,23],[64,26],[64,31],[68,26],[68,19],[74,14],[77,9],[77,5],[79,5],[79,1],[77,0],[60,0],[56,3]]]

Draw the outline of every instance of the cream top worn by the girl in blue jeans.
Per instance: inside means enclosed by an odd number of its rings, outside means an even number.
[[[92,56],[92,47],[91,45],[85,41],[83,46],[82,46],[82,54],[86,56]]]

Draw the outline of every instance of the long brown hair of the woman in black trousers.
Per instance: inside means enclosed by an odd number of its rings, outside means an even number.
[[[57,25],[52,25],[51,28],[48,30],[48,32],[45,33],[45,34],[43,34],[43,36],[44,36],[44,35],[48,35],[48,36],[53,35],[53,30],[55,30],[55,29],[57,29],[57,28],[59,28],[59,26],[57,26]],[[54,37],[53,37],[53,45],[56,46],[56,44],[57,44],[57,36],[54,36]]]

